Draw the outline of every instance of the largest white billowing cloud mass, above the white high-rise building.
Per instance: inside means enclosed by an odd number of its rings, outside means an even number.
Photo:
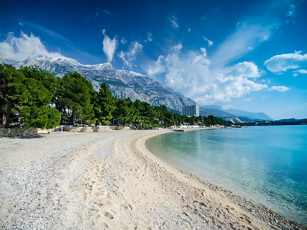
[[[182,48],[182,44],[178,43],[170,48],[167,56],[159,56],[156,62],[150,63],[147,74],[164,72],[163,80],[167,86],[201,105],[230,102],[231,98],[267,87],[250,80],[260,77],[262,73],[255,63],[242,62],[230,68],[214,68],[206,48],[181,53]]]

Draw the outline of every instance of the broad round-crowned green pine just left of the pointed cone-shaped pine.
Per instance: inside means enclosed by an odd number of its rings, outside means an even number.
[[[80,124],[82,119],[91,121],[94,117],[91,102],[94,89],[91,82],[77,72],[65,74],[59,81],[56,105],[61,111],[71,111],[69,124],[75,126],[76,118],[80,118]]]

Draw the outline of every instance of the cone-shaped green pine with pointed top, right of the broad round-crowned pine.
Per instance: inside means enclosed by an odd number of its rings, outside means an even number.
[[[99,92],[95,94],[94,98],[95,119],[102,125],[109,125],[112,113],[116,108],[116,98],[105,82],[101,83]]]

